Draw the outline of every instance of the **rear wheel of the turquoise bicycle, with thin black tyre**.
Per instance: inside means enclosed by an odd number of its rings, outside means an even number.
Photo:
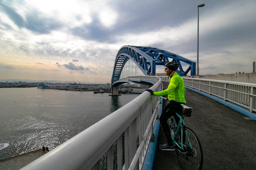
[[[187,136],[186,136],[186,133]],[[176,136],[176,142],[181,144],[181,130]],[[183,128],[183,148],[176,146],[176,155],[183,170],[201,170],[203,167],[203,150],[195,132],[189,127]]]

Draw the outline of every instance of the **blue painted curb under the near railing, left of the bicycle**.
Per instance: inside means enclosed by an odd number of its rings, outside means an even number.
[[[161,113],[162,113],[162,105],[163,105],[163,102],[159,104],[159,109],[158,109],[159,117],[161,116]],[[155,151],[156,151],[157,142],[158,142],[159,130],[160,130],[160,121],[159,119],[157,119],[155,121],[155,125],[153,128],[153,133],[155,134],[155,142],[149,142],[148,150],[144,159],[144,163],[141,168],[142,170],[152,170],[154,167]]]

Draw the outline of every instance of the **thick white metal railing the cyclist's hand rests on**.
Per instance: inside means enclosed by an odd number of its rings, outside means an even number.
[[[155,82],[150,89],[162,90],[159,77],[133,76]],[[158,98],[144,92],[112,114],[80,132],[73,138],[31,162],[22,170],[100,169],[100,158],[107,153],[107,167],[113,169],[113,148],[117,148],[117,169],[140,169],[150,142],[158,113]],[[123,134],[124,133],[124,153]],[[139,148],[137,148],[139,145]],[[138,151],[137,151],[138,149]],[[139,150],[140,149],[140,150]],[[133,162],[132,162],[133,161]],[[132,163],[132,164],[131,164]]]

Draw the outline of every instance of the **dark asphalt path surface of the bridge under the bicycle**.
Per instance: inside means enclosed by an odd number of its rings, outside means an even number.
[[[163,83],[164,88],[167,85]],[[185,99],[193,108],[185,124],[201,142],[203,169],[255,169],[256,121],[244,119],[244,114],[192,90],[186,89]],[[158,144],[165,142],[163,134]],[[181,169],[175,151],[157,148],[153,169]]]

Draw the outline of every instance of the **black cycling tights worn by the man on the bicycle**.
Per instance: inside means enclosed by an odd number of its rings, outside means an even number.
[[[172,146],[172,136],[171,136],[169,125],[167,124],[167,120],[173,116],[176,121],[176,124],[179,123],[180,118],[176,115],[176,113],[182,112],[183,107],[180,104],[184,104],[184,103],[180,103],[180,102],[171,100],[169,102],[169,104],[164,108],[164,110],[162,111],[162,114],[159,118],[159,121],[163,127],[163,131],[167,138],[167,143],[170,146]]]

